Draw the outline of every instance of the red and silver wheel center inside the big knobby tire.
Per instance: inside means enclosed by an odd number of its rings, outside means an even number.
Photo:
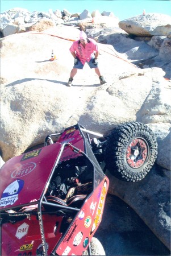
[[[147,143],[140,138],[134,139],[127,148],[127,163],[132,168],[139,168],[147,158]]]

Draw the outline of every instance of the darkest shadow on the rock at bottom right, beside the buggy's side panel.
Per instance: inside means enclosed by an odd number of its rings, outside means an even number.
[[[170,255],[136,212],[109,194],[95,237],[102,243],[106,255]]]

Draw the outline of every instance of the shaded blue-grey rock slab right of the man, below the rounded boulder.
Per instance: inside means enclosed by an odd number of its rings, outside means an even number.
[[[171,39],[169,37],[153,36],[148,40],[147,38],[142,40],[139,37],[132,39],[119,27],[104,28],[98,25],[93,28],[89,28],[89,25],[83,27],[86,28],[88,37],[94,38],[99,43],[111,44],[118,56],[131,60],[141,68],[162,68],[165,71],[165,77],[171,78]]]

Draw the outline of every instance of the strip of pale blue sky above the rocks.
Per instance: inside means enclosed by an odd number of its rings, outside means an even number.
[[[119,20],[131,18],[143,13],[161,13],[171,15],[171,1],[170,0],[91,0],[91,1],[72,1],[72,0],[0,0],[1,13],[10,10],[14,7],[27,9],[28,11],[46,11],[49,9],[68,10],[70,13],[82,13],[85,9],[90,13],[94,10],[112,11]]]

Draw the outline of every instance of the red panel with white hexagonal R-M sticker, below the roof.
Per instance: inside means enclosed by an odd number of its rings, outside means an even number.
[[[52,251],[62,236],[59,232],[61,217],[47,214],[43,216],[43,222],[48,251]],[[57,229],[56,223],[59,223]],[[30,220],[25,218],[16,224],[2,225],[2,256],[36,255],[38,250],[39,253],[42,250],[41,243],[39,222],[35,216],[31,216]]]

